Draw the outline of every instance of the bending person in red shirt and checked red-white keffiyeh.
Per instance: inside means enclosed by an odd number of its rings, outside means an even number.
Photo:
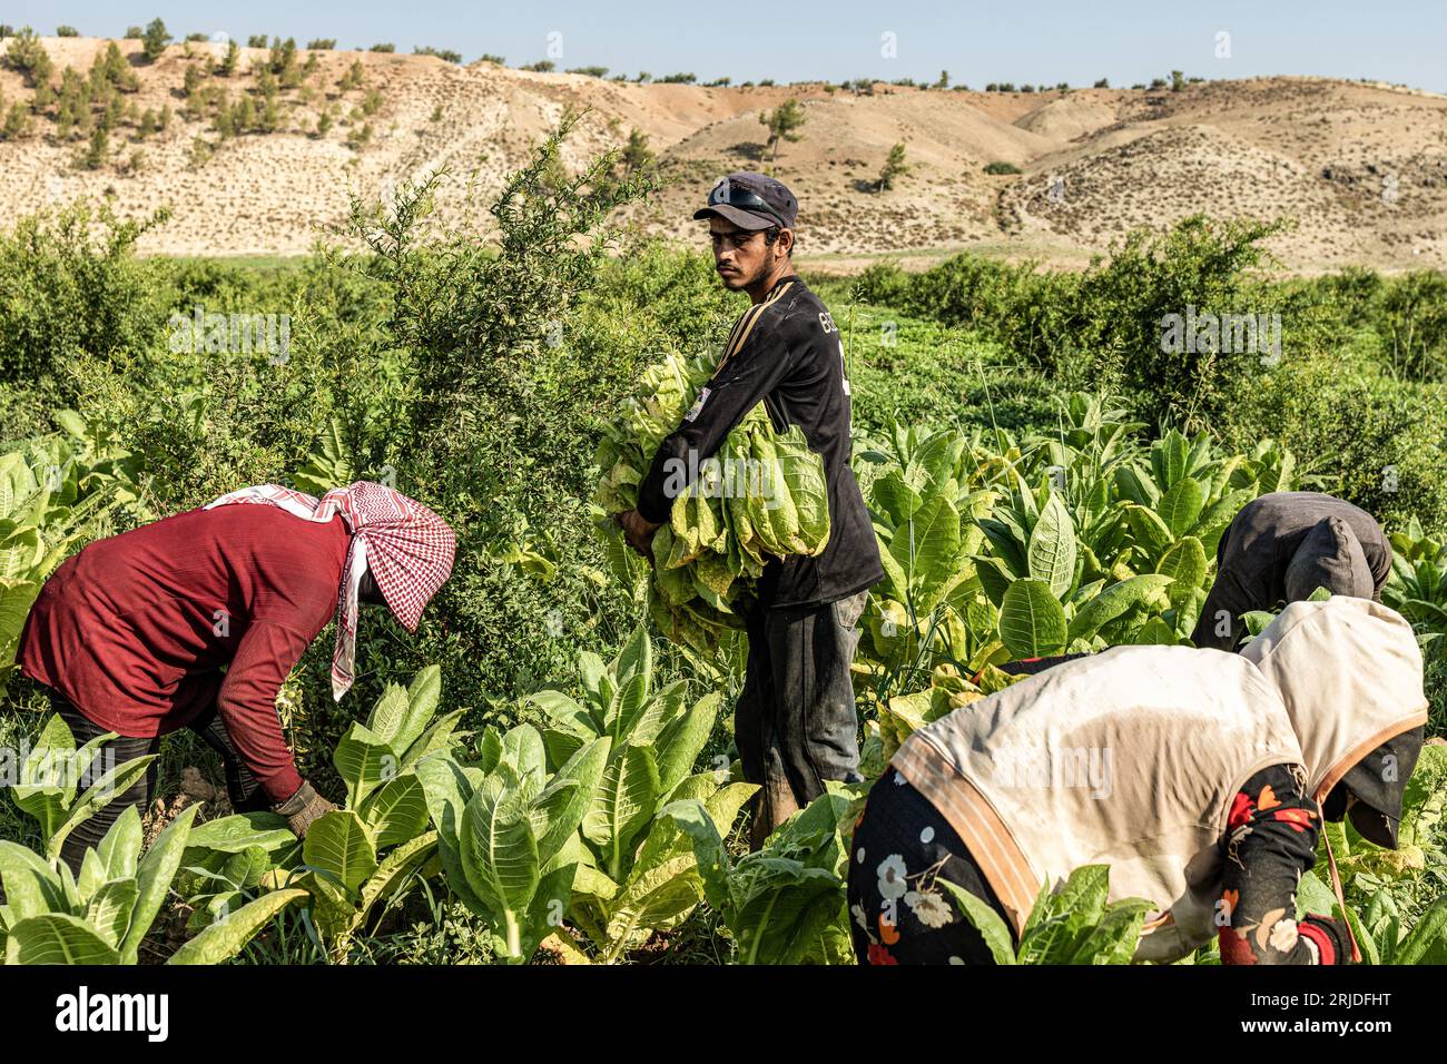
[[[16,662],[49,688],[78,744],[120,737],[93,764],[156,753],[161,735],[191,728],[221,754],[237,812],[272,809],[304,838],[334,806],[297,772],[276,715],[281,685],[334,618],[340,701],[352,686],[357,602],[385,605],[415,631],[454,550],[446,521],[379,484],[320,499],[243,488],[68,559],[41,589]],[[143,811],[155,785],[152,763],[69,834],[62,860],[80,871],[85,850],[127,805]]]

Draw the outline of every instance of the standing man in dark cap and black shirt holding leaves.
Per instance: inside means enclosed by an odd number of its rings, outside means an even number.
[[[858,719],[849,663],[868,588],[884,576],[860,485],[849,469],[849,381],[844,343],[793,265],[799,204],[764,174],[729,174],[695,220],[708,220],[713,261],[731,291],[750,297],[713,378],[683,424],[658,446],[619,515],[628,543],[651,557],[653,534],[682,492],[677,470],[697,469],[760,402],[774,428],[797,424],[823,459],[829,543],[818,557],[770,559],[758,601],[739,604],[748,670],[734,735],[744,774],[760,785],[752,844],[825,790],[860,780]],[[692,459],[692,460],[690,460]]]

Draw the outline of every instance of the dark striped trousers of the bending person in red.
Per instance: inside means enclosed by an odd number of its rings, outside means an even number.
[[[62,695],[54,691],[49,692],[49,695],[51,708],[61,715],[61,719],[69,727],[71,734],[75,735],[77,748],[90,743],[97,735],[104,735],[107,732],[107,728],[100,727],[81,714],[81,711],[71,705],[71,702]],[[266,802],[266,795],[260,789],[260,783],[242,763],[242,757],[236,751],[236,746],[232,743],[232,737],[226,732],[226,725],[221,722],[221,718],[217,715],[214,706],[197,719],[191,721],[187,727],[190,727],[191,731],[200,735],[208,747],[221,756],[221,763],[226,767],[226,792],[230,796],[232,808],[236,812],[256,812],[271,808]],[[158,753],[159,750],[159,735],[152,738],[127,738],[126,735],[122,735],[110,740],[110,743],[103,743],[97,751],[96,760],[91,763],[94,773],[91,769],[87,769],[80,779],[80,792],[84,792],[85,788],[91,786],[96,779],[103,776],[107,770],[119,767],[137,757]],[[85,851],[100,845],[106,832],[110,831],[111,825],[117,819],[120,819],[120,815],[126,811],[127,805],[136,806],[142,814],[146,812],[150,795],[156,789],[158,774],[158,763],[152,761],[145,776],[132,783],[127,790],[117,795],[113,802],[101,806],[94,816],[81,821],[75,829],[65,837],[65,841],[61,844],[61,860],[71,866],[71,871],[80,874],[81,861],[85,860]]]

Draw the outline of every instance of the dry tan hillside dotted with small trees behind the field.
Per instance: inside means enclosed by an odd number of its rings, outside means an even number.
[[[42,42],[56,87],[65,67],[85,75],[109,46],[88,38]],[[486,203],[504,175],[574,106],[589,110],[564,161],[577,164],[641,130],[671,184],[634,220],[693,239],[689,216],[713,178],[768,165],[760,111],[799,97],[803,139],[784,143],[773,166],[799,194],[802,258],[818,265],[849,266],[880,253],[928,261],[965,246],[1079,263],[1132,227],[1205,210],[1295,217],[1298,229],[1273,246],[1302,272],[1347,263],[1447,268],[1447,97],[1388,85],[1262,78],[1179,93],[985,94],[880,84],[855,94],[822,85],[640,85],[430,56],[315,52],[301,84],[279,91],[275,132],[223,139],[214,103],[187,113],[187,68],[197,68],[203,93],[259,104],[266,49],[240,49],[237,71],[223,78],[205,74],[220,55],[213,45],[172,45],[143,64],[139,41],[117,43],[139,88],[123,94],[109,158],[96,169],[78,165],[88,138],[72,132],[62,140],[51,104],[27,136],[0,142],[6,217],[113,193],[124,213],[172,208],[171,221],[146,235],[150,252],[297,253],[346,216],[350,194],[376,195],[446,166],[440,217],[451,229],[485,229]],[[301,51],[298,61],[310,55]],[[343,90],[356,61],[363,84]],[[33,98],[13,69],[0,69],[0,94],[7,109]],[[142,138],[139,116],[164,107],[172,111],[165,130]],[[328,111],[330,127],[318,132]],[[360,143],[365,127],[369,139]],[[877,193],[874,178],[896,142],[906,145],[910,172]],[[1020,174],[987,175],[988,162]]]

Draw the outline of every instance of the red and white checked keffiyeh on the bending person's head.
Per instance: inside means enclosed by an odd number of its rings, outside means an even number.
[[[357,585],[372,567],[392,615],[417,631],[423,607],[451,575],[457,537],[444,520],[415,499],[370,481],[333,488],[320,499],[279,484],[242,488],[204,508],[239,502],[279,507],[304,521],[337,514],[352,533],[337,594],[337,646],[331,653],[331,693],[340,702],[352,686],[357,636]]]

